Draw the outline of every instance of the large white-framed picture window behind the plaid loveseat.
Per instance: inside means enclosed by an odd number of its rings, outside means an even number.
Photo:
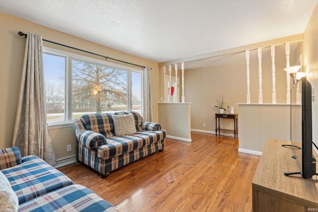
[[[48,123],[87,113],[142,111],[142,71],[45,48]]]

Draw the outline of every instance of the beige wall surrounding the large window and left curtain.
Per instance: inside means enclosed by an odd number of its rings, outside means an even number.
[[[41,34],[44,39],[76,47],[96,54],[109,56],[130,63],[152,67],[152,99],[154,121],[158,122],[159,101],[159,68],[158,63],[129,55],[102,45],[83,40],[81,38],[53,30],[51,28],[35,24],[5,13],[0,13],[0,148],[12,146],[13,128],[15,122],[18,94],[21,80],[25,39],[18,36],[17,32],[31,31]],[[71,51],[44,42],[44,46],[58,48],[63,51]],[[79,51],[72,51],[84,56],[90,56]],[[97,57],[96,57],[97,58]],[[102,60],[102,58],[97,58]],[[114,61],[110,61],[114,62]],[[124,65],[124,64],[123,64]],[[136,67],[134,67],[136,68]],[[75,136],[73,128],[52,129],[50,134],[57,159],[75,154]],[[67,144],[72,144],[72,151],[67,152]]]

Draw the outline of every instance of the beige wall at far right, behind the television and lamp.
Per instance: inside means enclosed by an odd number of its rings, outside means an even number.
[[[308,79],[314,87],[313,141],[318,145],[318,3],[304,32],[302,57],[304,69],[309,72]]]

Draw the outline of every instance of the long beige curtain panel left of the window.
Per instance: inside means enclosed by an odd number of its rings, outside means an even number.
[[[13,146],[22,156],[37,155],[51,165],[56,157],[46,120],[46,99],[41,35],[28,32],[21,76]]]

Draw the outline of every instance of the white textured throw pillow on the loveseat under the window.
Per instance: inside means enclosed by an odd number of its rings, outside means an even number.
[[[129,135],[136,133],[135,119],[133,114],[113,115],[115,135]]]

